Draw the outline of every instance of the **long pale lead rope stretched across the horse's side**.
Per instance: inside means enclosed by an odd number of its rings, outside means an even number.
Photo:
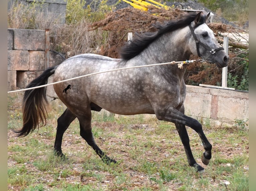
[[[142,65],[142,66],[133,66],[133,67],[125,67],[125,68],[118,68],[118,69],[113,69],[113,70],[106,70],[106,71],[102,71],[102,72],[95,72],[95,73],[91,73],[91,74],[87,74],[87,75],[83,75],[83,76],[78,76],[78,77],[74,77],[74,78],[70,78],[70,79],[66,79],[66,80],[61,80],[58,82],[53,82],[53,83],[49,83],[49,84],[45,84],[45,85],[41,85],[41,86],[35,86],[32,88],[25,88],[25,89],[21,89],[21,90],[14,90],[14,91],[9,91],[7,93],[15,93],[15,92],[22,92],[22,91],[26,91],[26,90],[33,90],[33,89],[37,89],[37,88],[43,88],[46,86],[50,86],[50,85],[54,85],[54,84],[59,84],[62,82],[67,82],[70,80],[75,80],[75,79],[79,79],[79,78],[83,78],[83,77],[87,77],[87,76],[92,76],[92,75],[96,75],[96,74],[102,74],[102,73],[106,73],[106,72],[114,72],[114,71],[118,71],[118,70],[126,70],[126,69],[133,69],[133,68],[142,68],[142,67],[149,67],[149,66],[159,66],[159,65],[168,65],[168,64],[177,64],[179,69],[183,69],[183,64],[189,64],[189,63],[193,63],[193,62],[204,62],[205,60],[200,59],[200,60],[186,60],[186,61],[179,61],[179,62],[166,62],[166,63],[159,63],[159,64],[150,64],[150,65]]]

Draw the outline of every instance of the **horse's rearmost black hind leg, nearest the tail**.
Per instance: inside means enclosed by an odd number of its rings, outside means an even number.
[[[62,115],[57,119],[57,132],[54,143],[54,151],[57,155],[65,158],[61,150],[61,142],[64,132],[68,129],[70,123],[76,116],[67,108]]]

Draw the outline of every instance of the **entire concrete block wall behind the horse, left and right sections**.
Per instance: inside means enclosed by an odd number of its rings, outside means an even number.
[[[45,31],[8,29],[8,91],[25,88],[44,71]],[[49,52],[49,67],[63,59]],[[48,83],[52,82],[52,77]],[[249,118],[249,93],[187,85],[185,114],[212,126],[234,124],[235,119]],[[49,100],[56,97],[47,87]],[[52,104],[59,105],[58,99]],[[63,105],[62,105],[63,106]],[[149,115],[155,116],[155,115]]]

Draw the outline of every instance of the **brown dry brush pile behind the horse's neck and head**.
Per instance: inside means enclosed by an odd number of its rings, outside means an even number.
[[[154,13],[150,14],[150,13]],[[157,9],[150,8],[149,12],[139,11],[134,8],[119,9],[111,12],[105,19],[94,22],[90,30],[101,29],[109,32],[109,39],[106,44],[101,46],[99,54],[118,58],[118,50],[127,41],[127,33],[153,32],[156,29],[152,24],[156,22],[163,23],[168,20],[178,19],[186,12],[180,9]],[[249,32],[234,28],[223,23],[209,23],[209,27],[214,31],[219,43],[223,44],[223,36],[229,35],[229,71],[235,73],[243,71],[243,67],[238,65],[239,61],[249,63]],[[245,58],[240,58],[239,55],[247,55]],[[191,59],[197,59],[196,57]],[[240,71],[239,71],[240,70]],[[193,63],[187,68],[184,80],[187,84],[191,81],[194,83],[205,83],[209,85],[220,85],[222,79],[222,70],[214,65],[207,63]]]

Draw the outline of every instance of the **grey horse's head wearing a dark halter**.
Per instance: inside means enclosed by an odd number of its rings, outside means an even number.
[[[200,12],[189,25],[191,32],[190,51],[192,54],[216,64],[218,68],[223,68],[228,65],[229,56],[217,42],[213,31],[206,25],[209,16],[210,13],[207,16],[202,16]]]

